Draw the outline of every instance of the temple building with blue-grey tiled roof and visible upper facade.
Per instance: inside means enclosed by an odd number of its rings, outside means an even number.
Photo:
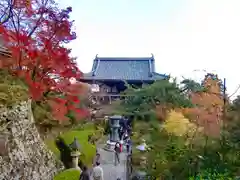
[[[96,55],[91,72],[84,74],[80,81],[90,84],[96,96],[108,97],[111,100],[121,96],[120,93],[126,89],[125,83],[141,87],[143,84],[152,84],[156,80],[168,77],[166,74],[155,72],[153,55],[151,57]]]

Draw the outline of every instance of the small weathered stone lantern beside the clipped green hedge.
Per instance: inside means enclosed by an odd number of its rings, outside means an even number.
[[[72,156],[72,168],[80,170],[78,166],[78,158],[81,155],[80,153],[80,144],[77,140],[77,138],[74,138],[73,142],[69,145],[71,148],[71,156]]]

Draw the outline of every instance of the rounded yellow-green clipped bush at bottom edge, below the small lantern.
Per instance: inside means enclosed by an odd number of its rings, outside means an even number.
[[[57,174],[53,180],[79,180],[80,171],[75,169],[68,169]]]

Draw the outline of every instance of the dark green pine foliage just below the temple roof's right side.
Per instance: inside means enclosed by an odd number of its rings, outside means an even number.
[[[156,105],[170,105],[171,107],[191,107],[192,103],[178,87],[176,81],[159,80],[152,85],[144,85],[141,89],[128,86],[124,92],[128,95],[122,101],[119,109],[126,115],[135,115],[146,119],[153,119]]]

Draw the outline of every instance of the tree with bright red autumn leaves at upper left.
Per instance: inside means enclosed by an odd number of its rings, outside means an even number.
[[[3,1],[0,35],[11,58],[0,68],[23,78],[32,99],[47,100],[56,119],[65,119],[69,110],[83,114],[81,86],[70,83],[82,73],[64,46],[76,38],[69,17],[72,8],[60,9],[54,0],[28,0],[25,6],[22,0]]]

